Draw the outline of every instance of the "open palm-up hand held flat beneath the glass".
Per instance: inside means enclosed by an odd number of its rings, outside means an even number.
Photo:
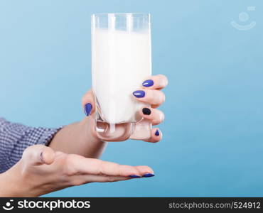
[[[36,197],[88,182],[114,182],[151,177],[148,166],[119,165],[75,154],[29,146],[21,160],[0,174],[0,197]]]

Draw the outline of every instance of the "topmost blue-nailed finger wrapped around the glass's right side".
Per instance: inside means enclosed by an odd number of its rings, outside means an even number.
[[[142,83],[142,86],[149,89],[163,89],[167,84],[168,79],[165,75],[153,75],[147,77]]]

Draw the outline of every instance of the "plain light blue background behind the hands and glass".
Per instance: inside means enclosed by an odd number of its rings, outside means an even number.
[[[256,6],[256,11],[247,11]],[[1,116],[56,127],[82,119],[90,15],[150,12],[153,72],[168,76],[163,141],[109,143],[102,159],[156,177],[48,196],[262,196],[263,1],[0,1]],[[249,13],[242,23],[238,14]],[[249,31],[242,25],[256,21]]]

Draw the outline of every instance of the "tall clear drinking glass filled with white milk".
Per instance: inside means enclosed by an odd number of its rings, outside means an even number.
[[[99,138],[124,141],[151,136],[151,124],[139,116],[139,110],[146,105],[132,94],[150,75],[150,15],[93,14],[92,91]]]

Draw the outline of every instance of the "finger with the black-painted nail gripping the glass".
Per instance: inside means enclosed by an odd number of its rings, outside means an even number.
[[[164,114],[159,109],[144,107],[141,108],[139,114],[149,120],[152,125],[158,125],[164,120]]]

